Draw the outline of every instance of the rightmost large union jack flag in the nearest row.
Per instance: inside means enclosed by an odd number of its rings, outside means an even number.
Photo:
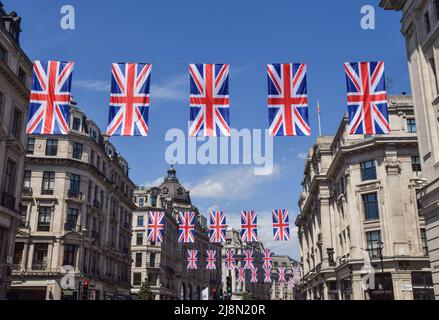
[[[346,62],[345,72],[349,133],[390,133],[384,62]]]

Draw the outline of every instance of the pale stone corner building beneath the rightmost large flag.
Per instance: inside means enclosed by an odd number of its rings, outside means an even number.
[[[389,135],[362,136],[345,117],[309,152],[296,220],[306,299],[434,298],[412,99],[390,97],[389,118]]]

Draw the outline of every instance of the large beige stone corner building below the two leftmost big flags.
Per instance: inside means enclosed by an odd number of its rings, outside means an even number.
[[[73,103],[70,133],[30,135],[26,153],[9,298],[128,298],[135,209],[128,163]]]

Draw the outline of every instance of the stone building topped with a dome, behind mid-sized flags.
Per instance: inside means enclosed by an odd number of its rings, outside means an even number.
[[[141,284],[147,281],[155,300],[201,300],[208,289],[209,299],[221,286],[219,254],[221,245],[209,242],[206,218],[192,204],[189,191],[179,182],[171,167],[158,187],[135,190],[137,209],[133,215],[132,294],[135,298]],[[147,241],[148,213],[165,213],[164,241]],[[178,212],[196,213],[195,243],[178,243]],[[187,269],[187,250],[198,250],[198,270]],[[206,250],[216,250],[217,270],[206,269]]]

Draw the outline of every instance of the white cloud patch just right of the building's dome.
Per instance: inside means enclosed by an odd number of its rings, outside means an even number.
[[[191,196],[205,199],[236,200],[256,194],[256,190],[269,180],[279,177],[279,168],[270,175],[255,175],[252,167],[223,170],[208,175],[190,187]]]

